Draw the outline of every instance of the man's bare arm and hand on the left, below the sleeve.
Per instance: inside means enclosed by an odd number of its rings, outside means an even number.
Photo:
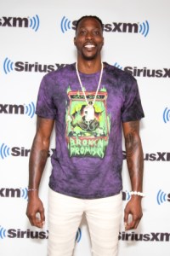
[[[38,197],[39,184],[46,161],[54,120],[37,117],[37,132],[34,137],[29,160],[28,205],[26,215],[31,225],[42,228],[45,221],[42,201]],[[37,217],[39,213],[39,217]]]

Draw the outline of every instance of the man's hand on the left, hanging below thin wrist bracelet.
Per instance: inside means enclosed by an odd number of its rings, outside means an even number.
[[[45,224],[45,215],[42,201],[38,196],[29,197],[26,215],[32,226],[42,229],[43,224]]]

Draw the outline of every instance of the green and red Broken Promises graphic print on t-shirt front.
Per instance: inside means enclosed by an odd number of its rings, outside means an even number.
[[[106,90],[98,92],[94,106],[95,92],[85,92],[88,104],[82,91],[67,93],[70,103],[66,111],[66,141],[70,156],[104,158],[111,121],[106,111]]]

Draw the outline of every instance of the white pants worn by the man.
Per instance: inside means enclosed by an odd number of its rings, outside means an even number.
[[[116,256],[122,217],[122,193],[84,200],[49,189],[48,256],[71,256],[82,214],[85,213],[94,256]]]

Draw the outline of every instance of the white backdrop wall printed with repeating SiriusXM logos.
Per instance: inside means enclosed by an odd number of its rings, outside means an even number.
[[[26,217],[37,91],[44,74],[76,61],[73,38],[76,20],[82,15],[98,15],[103,20],[102,59],[138,80],[145,113],[140,131],[144,148],[144,217],[137,230],[128,232],[122,220],[118,256],[169,255],[169,9],[168,0],[0,0],[1,255],[47,256],[48,222],[39,230]],[[49,154],[53,148],[54,134]],[[50,172],[49,157],[40,189],[46,214]],[[126,160],[122,177],[125,207],[131,189]],[[90,256],[85,218],[75,239],[75,255]]]

